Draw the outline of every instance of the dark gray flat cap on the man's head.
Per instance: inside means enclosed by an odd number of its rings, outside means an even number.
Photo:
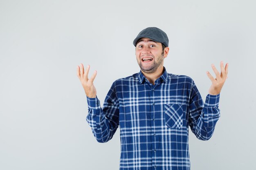
[[[168,46],[169,39],[164,31],[157,27],[148,27],[137,35],[137,37],[133,40],[133,45],[136,46],[137,42],[140,38],[150,38],[156,42],[161,42],[165,46]]]

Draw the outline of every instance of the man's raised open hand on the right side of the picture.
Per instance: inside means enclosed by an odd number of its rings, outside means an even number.
[[[216,69],[214,64],[211,64],[211,67],[212,67],[214,73],[216,74],[216,79],[209,73],[209,71],[206,72],[207,76],[209,77],[209,79],[212,82],[211,87],[209,89],[209,94],[210,95],[218,95],[218,94],[220,94],[221,88],[227,79],[227,72],[228,72],[229,64],[227,63],[224,68],[223,62],[222,61],[220,62],[221,73],[218,72],[218,70]]]

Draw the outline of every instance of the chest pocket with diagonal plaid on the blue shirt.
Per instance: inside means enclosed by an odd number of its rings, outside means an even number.
[[[183,124],[182,104],[165,104],[164,110],[166,126],[169,128],[181,128]]]

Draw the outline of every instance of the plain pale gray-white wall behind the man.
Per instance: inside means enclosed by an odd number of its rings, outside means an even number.
[[[156,26],[168,73],[193,78],[203,99],[211,64],[229,63],[213,137],[191,133],[191,170],[255,170],[254,0],[0,0],[0,170],[117,170],[117,130],[99,144],[85,121],[76,66],[91,65],[103,100],[139,72],[132,41]]]

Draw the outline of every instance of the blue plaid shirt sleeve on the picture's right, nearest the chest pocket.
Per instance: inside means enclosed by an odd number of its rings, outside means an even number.
[[[207,95],[205,103],[193,82],[189,102],[189,126],[198,139],[209,140],[220,117],[220,94]]]

